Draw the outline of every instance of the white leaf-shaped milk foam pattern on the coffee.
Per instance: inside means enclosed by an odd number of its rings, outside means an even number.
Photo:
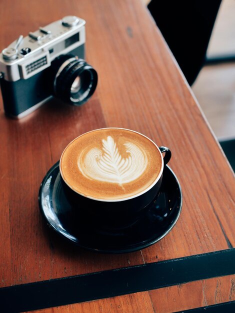
[[[131,142],[123,143],[127,157],[119,153],[112,136],[102,139],[102,150],[90,149],[84,156],[81,152],[78,158],[78,168],[84,176],[90,179],[122,184],[138,178],[146,169],[147,156],[143,149]]]

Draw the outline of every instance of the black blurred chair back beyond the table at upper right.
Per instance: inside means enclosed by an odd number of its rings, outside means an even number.
[[[189,85],[206,61],[221,0],[151,0],[148,9]]]

